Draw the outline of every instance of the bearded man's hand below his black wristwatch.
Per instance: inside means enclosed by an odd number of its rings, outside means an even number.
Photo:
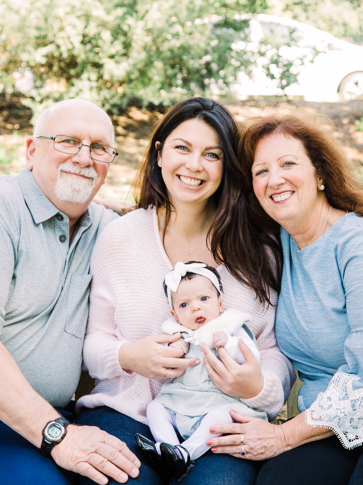
[[[51,454],[60,467],[98,484],[108,482],[105,475],[123,484],[129,476],[137,477],[140,468],[138,458],[125,443],[95,426],[68,425],[67,435]]]

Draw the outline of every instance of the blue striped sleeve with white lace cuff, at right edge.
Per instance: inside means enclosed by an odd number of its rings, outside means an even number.
[[[350,333],[342,341],[346,364],[306,411],[310,426],[330,428],[346,448],[363,443],[363,230],[337,248]]]

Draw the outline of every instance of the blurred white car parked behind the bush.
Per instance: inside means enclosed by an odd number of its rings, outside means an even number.
[[[363,47],[338,39],[333,35],[289,18],[265,14],[235,15],[249,21],[249,42],[238,41],[232,48],[253,49],[263,39],[272,39],[280,46],[278,53],[297,60],[290,69],[297,74],[298,83],[285,88],[288,96],[302,96],[309,101],[336,101],[363,96]],[[287,44],[295,39],[294,46]],[[251,47],[252,46],[252,47]],[[303,62],[301,60],[303,59]],[[266,61],[266,60],[265,60]],[[257,59],[252,79],[243,73],[237,76],[233,90],[242,97],[248,95],[281,95],[278,80],[271,80],[264,71],[263,58]],[[340,96],[339,96],[340,94]]]

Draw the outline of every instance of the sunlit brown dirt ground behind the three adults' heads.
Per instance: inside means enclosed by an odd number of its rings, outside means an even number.
[[[268,111],[302,112],[316,117],[344,146],[348,158],[363,166],[363,131],[356,131],[357,120],[363,117],[363,100],[339,103],[316,103],[275,99],[261,101],[226,101],[226,106],[242,122],[249,116]],[[141,111],[128,108],[120,116],[114,115],[112,122],[116,132],[116,148],[119,156],[110,164],[106,183],[98,196],[132,201],[129,193],[137,165],[148,146],[148,137],[153,125],[162,114],[158,111]],[[324,119],[324,116],[330,118]],[[31,112],[20,103],[20,99],[0,99],[0,174],[16,174],[25,164],[25,139],[31,133]],[[361,123],[361,129],[363,124]]]

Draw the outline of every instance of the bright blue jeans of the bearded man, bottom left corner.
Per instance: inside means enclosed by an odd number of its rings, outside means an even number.
[[[72,413],[57,408],[69,420]],[[46,423],[44,423],[46,424]],[[52,458],[0,421],[0,484],[72,485],[76,474],[64,470]]]

